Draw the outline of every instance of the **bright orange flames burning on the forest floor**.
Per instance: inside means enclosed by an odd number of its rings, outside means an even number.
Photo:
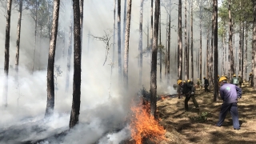
[[[132,106],[132,119],[130,123],[131,137],[136,144],[141,144],[144,138],[156,143],[165,140],[166,130],[150,116],[150,103]]]

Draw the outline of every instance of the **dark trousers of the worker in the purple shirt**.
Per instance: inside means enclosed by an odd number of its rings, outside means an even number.
[[[238,120],[238,104],[236,102],[222,104],[217,126],[222,126],[222,123],[224,122],[228,111],[230,111],[230,114],[232,116],[234,129],[239,129],[240,125]]]

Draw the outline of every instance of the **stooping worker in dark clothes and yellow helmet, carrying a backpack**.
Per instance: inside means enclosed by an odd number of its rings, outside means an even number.
[[[182,80],[178,80],[177,81],[178,86],[180,86],[182,89],[182,94],[185,95],[185,101],[184,101],[184,105],[185,105],[185,110],[188,111],[189,110],[189,106],[188,106],[188,102],[190,101],[190,98],[192,98],[194,106],[196,109],[199,108],[198,106],[198,102],[197,100],[194,98],[194,86],[191,84],[191,82],[185,82],[182,83]]]

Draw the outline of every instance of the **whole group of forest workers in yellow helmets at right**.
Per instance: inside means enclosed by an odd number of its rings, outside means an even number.
[[[238,76],[239,78],[240,76]],[[198,79],[199,80],[199,79]],[[205,91],[209,92],[208,86],[209,86],[209,81],[204,77],[205,83]],[[228,78],[226,76],[222,76],[221,78],[218,78],[218,84],[220,86],[219,88],[219,93],[220,96],[223,100],[222,106],[221,106],[221,111],[219,114],[219,120],[217,124],[214,126],[222,126],[222,123],[224,122],[226,118],[226,114],[230,112],[232,119],[233,119],[233,126],[234,130],[240,130],[240,125],[238,121],[238,98],[242,98],[242,89],[241,85],[242,82],[239,80],[234,83],[236,80],[236,75],[233,75],[233,78],[231,79],[230,83],[228,82]],[[241,84],[240,84],[241,83]],[[239,84],[239,86],[238,86]],[[182,80],[177,81],[177,85],[180,87],[178,90],[178,94],[184,95],[185,98],[185,110],[188,111],[188,102],[190,98],[192,98],[194,106],[196,109],[199,109],[198,102],[196,101],[194,94],[195,94],[195,88],[194,88],[194,83],[192,81],[187,81],[187,82],[182,82]],[[197,82],[198,86],[201,86],[200,80]],[[182,98],[182,97],[179,97]]]

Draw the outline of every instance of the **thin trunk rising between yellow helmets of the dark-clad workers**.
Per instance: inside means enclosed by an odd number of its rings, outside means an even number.
[[[185,54],[184,54],[184,61],[185,61],[185,79],[189,79],[189,75],[188,75],[188,55],[187,55],[187,52],[188,52],[188,47],[187,47],[187,38],[186,38],[186,0],[185,0],[185,26],[184,26],[184,37],[185,37]]]

